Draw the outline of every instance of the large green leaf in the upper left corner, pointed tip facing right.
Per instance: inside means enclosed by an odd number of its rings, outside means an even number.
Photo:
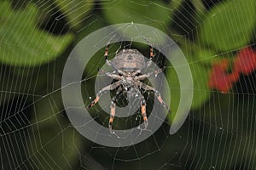
[[[53,36],[36,27],[38,8],[13,11],[8,1],[0,2],[0,61],[8,65],[42,65],[60,55],[73,35]]]

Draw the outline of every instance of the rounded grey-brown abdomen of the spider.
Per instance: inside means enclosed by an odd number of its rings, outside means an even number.
[[[145,59],[137,49],[123,49],[113,59],[113,65],[121,71],[137,71],[145,66]]]

